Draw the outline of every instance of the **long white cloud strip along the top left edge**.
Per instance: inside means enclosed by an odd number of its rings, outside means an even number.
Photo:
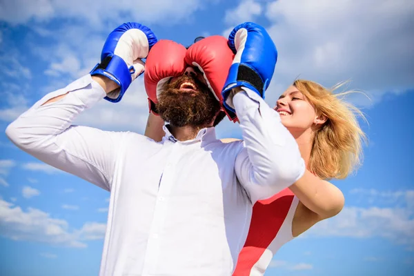
[[[0,20],[10,23],[48,21],[61,17],[86,20],[93,26],[105,26],[108,21],[119,22],[139,19],[140,22],[169,24],[188,19],[202,8],[199,0],[133,1],[103,0],[99,5],[92,0],[37,0],[6,1],[0,10]]]

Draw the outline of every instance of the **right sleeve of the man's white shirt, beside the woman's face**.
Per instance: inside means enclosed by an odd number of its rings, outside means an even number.
[[[233,104],[244,139],[235,172],[254,204],[302,177],[305,163],[295,138],[262,97],[243,88],[233,97]]]

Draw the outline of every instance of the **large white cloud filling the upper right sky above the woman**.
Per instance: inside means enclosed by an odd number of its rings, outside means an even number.
[[[349,88],[373,99],[352,99],[363,106],[414,86],[413,1],[279,0],[269,1],[264,14],[279,53],[266,93],[270,105],[298,76],[328,87],[351,80]]]

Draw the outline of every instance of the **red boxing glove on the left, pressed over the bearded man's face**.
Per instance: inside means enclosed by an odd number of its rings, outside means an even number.
[[[160,40],[152,46],[146,59],[144,84],[148,95],[150,112],[155,112],[155,103],[164,84],[172,77],[184,74],[186,48],[170,40]]]

